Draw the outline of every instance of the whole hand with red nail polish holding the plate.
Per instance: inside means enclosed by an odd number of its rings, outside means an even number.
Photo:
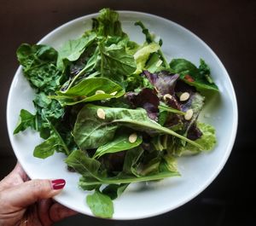
[[[17,163],[0,182],[0,226],[49,226],[73,212],[51,200],[61,193],[65,180],[28,180]]]

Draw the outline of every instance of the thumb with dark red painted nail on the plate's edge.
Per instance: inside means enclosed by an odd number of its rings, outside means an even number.
[[[31,180],[6,190],[4,200],[15,207],[30,206],[38,200],[49,199],[61,193],[66,182],[57,180]]]

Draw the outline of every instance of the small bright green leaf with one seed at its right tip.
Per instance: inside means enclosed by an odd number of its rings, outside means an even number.
[[[129,142],[128,134],[119,134],[113,138],[113,141],[106,143],[96,149],[94,158],[99,158],[103,154],[117,153],[120,151],[128,150],[139,146],[143,139],[139,136],[136,142]]]

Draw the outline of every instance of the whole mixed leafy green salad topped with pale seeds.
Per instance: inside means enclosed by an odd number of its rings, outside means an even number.
[[[27,43],[17,49],[35,90],[35,113],[21,109],[14,134],[39,132],[37,158],[66,154],[97,217],[113,216],[113,200],[129,184],[177,177],[177,158],[216,144],[212,125],[198,121],[204,94],[218,92],[207,63],[168,62],[163,41],[142,21],[135,26],[143,44],[122,30],[117,12],[102,9],[91,30],[58,50]]]

